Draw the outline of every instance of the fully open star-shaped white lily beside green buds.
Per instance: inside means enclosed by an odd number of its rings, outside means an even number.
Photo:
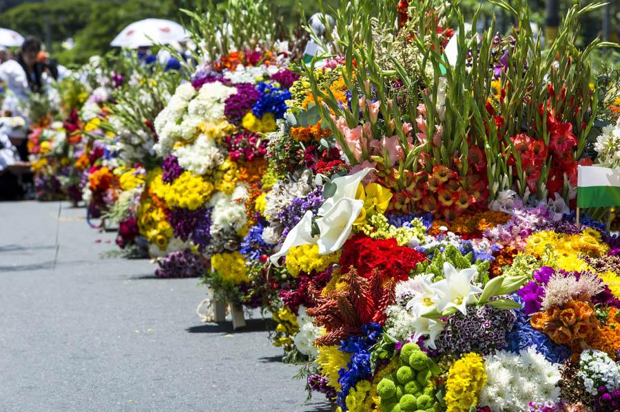
[[[442,313],[448,307],[455,307],[466,315],[468,303],[475,303],[476,295],[482,293],[482,289],[471,283],[477,273],[475,266],[456,270],[451,263],[445,262],[444,279],[433,283],[433,288],[437,292],[434,297],[437,302],[437,311]]]

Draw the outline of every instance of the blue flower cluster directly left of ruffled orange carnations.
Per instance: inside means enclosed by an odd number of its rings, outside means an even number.
[[[523,299],[518,294],[511,294],[513,299],[523,305]],[[523,309],[515,310],[517,320],[513,329],[506,336],[509,351],[519,352],[521,349],[533,347],[539,354],[544,356],[549,362],[561,363],[570,357],[570,349],[564,345],[558,345],[544,333],[538,332],[530,325],[530,316],[526,315]]]

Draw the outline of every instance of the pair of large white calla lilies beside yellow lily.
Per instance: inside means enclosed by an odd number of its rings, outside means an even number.
[[[308,210],[300,222],[291,229],[282,248],[272,254],[269,260],[278,265],[278,259],[285,256],[290,248],[301,245],[318,245],[319,254],[327,254],[339,250],[351,234],[353,222],[358,218],[364,201],[355,199],[355,193],[362,179],[372,169],[366,168],[349,176],[336,177],[333,184],[336,191],[318,209],[316,224],[319,234],[312,236],[312,213]]]

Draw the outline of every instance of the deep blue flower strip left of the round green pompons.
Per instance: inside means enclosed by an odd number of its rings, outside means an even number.
[[[342,390],[338,393],[336,402],[342,411],[347,411],[345,399],[351,388],[355,387],[360,380],[372,376],[371,347],[379,341],[382,333],[383,328],[378,323],[365,323],[362,325],[361,336],[349,336],[347,340],[342,341],[338,348],[351,354],[351,360],[347,363],[347,367],[338,371],[338,375],[340,375],[338,383],[342,386]]]

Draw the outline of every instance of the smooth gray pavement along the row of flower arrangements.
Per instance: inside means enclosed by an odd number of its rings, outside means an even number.
[[[200,323],[197,279],[101,259],[67,202],[0,202],[0,411],[329,411],[260,319]]]

